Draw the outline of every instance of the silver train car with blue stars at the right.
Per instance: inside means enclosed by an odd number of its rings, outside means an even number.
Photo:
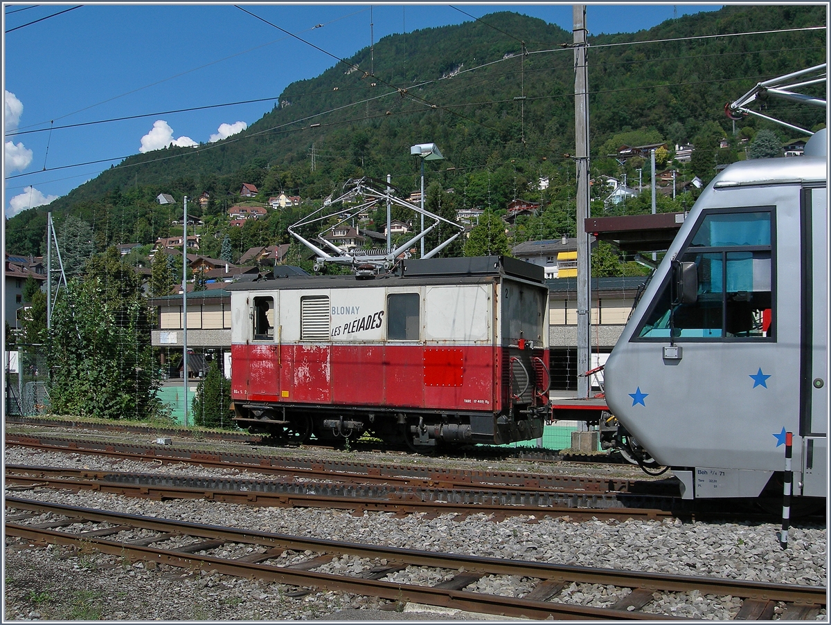
[[[794,495],[826,496],[826,145],[717,175],[606,363],[618,446],[685,499],[781,494],[789,432]]]

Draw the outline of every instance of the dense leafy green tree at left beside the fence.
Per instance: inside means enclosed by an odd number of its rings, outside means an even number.
[[[160,385],[150,346],[150,308],[116,248],[72,278],[52,311],[52,411],[105,419],[158,416]]]

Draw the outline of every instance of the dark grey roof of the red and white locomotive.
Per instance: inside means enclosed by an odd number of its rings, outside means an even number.
[[[266,278],[256,282],[229,284],[228,291],[260,291],[293,288],[357,288],[413,286],[416,284],[483,284],[499,279],[519,279],[548,288],[544,270],[538,265],[504,256],[474,258],[435,258],[407,260],[399,272],[362,278],[354,275],[293,275]]]

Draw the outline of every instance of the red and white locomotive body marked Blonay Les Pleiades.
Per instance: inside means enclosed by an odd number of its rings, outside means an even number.
[[[231,291],[234,419],[288,441],[365,431],[413,448],[542,436],[548,288],[514,258],[406,260],[395,275]]]

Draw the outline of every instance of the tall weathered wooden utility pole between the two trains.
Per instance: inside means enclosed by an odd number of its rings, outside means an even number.
[[[574,135],[577,164],[577,393],[588,397],[591,337],[591,253],[586,234],[589,216],[588,186],[588,71],[586,67],[586,5],[575,4],[574,16]]]

